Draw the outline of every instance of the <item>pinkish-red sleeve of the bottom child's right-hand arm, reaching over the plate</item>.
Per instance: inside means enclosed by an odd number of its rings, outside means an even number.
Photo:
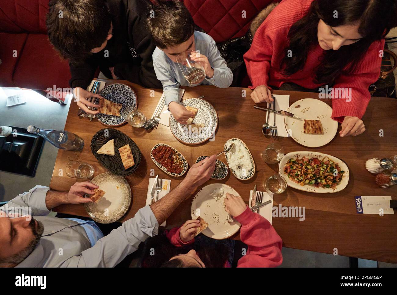
[[[264,217],[253,213],[247,207],[235,217],[241,223],[241,241],[248,245],[248,251],[237,263],[237,267],[274,267],[283,262],[281,248],[283,241]]]

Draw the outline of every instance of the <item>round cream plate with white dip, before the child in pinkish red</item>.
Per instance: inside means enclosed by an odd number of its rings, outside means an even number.
[[[211,193],[217,188],[223,188],[225,191],[224,196],[219,200],[215,200],[211,196]],[[212,183],[197,192],[191,205],[190,213],[192,219],[197,219],[200,216],[208,223],[208,227],[202,231],[202,234],[216,240],[223,240],[233,236],[241,226],[237,221],[231,223],[227,221],[228,213],[223,205],[227,192],[240,196],[238,192],[228,185]]]

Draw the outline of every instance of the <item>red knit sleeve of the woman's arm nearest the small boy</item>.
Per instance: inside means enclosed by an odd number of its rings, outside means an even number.
[[[254,89],[259,85],[268,86],[270,61],[272,59],[272,40],[266,33],[266,23],[262,23],[255,32],[251,48],[244,54],[247,74]]]

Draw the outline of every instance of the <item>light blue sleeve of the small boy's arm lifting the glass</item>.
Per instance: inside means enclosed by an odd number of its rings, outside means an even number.
[[[227,67],[226,61],[221,56],[218,47],[216,47],[215,40],[212,38],[209,44],[207,58],[212,69],[214,69],[214,76],[205,79],[216,87],[229,87],[231,82],[233,82],[233,72]]]

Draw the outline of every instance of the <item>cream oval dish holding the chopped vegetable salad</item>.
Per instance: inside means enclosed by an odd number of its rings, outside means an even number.
[[[288,175],[284,172],[285,163],[287,163],[289,161],[289,159],[291,159],[291,158],[301,159],[303,157],[318,158],[319,160],[322,160],[322,158],[324,158],[324,157],[328,157],[332,162],[339,164],[339,167],[341,168],[342,171],[345,171],[345,173],[343,173],[342,181],[336,186],[335,189],[314,187],[314,185],[301,186],[299,183],[293,182],[291,179],[289,179]],[[278,174],[281,175],[282,177],[284,177],[284,179],[285,179],[285,181],[287,181],[287,185],[289,187],[296,188],[297,190],[304,190],[306,192],[320,192],[320,193],[339,192],[347,186],[347,184],[349,183],[349,179],[350,179],[349,168],[347,167],[345,162],[343,162],[339,158],[336,158],[336,157],[328,155],[328,154],[323,154],[321,152],[306,152],[306,151],[289,152],[288,154],[283,156],[283,158],[281,158],[281,160],[278,164]]]

